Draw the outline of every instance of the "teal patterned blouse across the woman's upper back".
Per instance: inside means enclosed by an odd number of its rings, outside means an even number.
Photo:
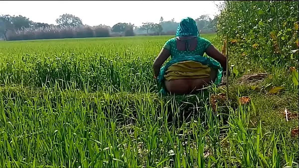
[[[179,56],[203,56],[211,42],[202,37],[173,37],[164,44],[163,48],[170,51],[171,58]]]

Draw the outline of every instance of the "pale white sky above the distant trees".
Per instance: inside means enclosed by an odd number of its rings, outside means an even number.
[[[187,1],[187,0],[1,0],[0,14],[22,15],[35,22],[56,24],[55,19],[64,13],[73,14],[82,19],[83,24],[91,26],[106,24],[113,26],[118,22],[131,22],[137,26],[142,22],[158,23],[174,18],[180,21],[183,17],[197,18],[209,14],[211,18],[219,11],[215,3],[220,1]],[[182,7],[186,6],[186,8]]]

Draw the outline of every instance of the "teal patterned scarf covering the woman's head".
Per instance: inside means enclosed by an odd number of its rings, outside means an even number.
[[[183,18],[178,26],[175,33],[175,36],[198,36],[198,28],[196,25],[196,22],[191,17],[185,17]]]

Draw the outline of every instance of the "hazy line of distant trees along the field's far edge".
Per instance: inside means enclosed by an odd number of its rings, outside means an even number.
[[[218,16],[211,19],[204,14],[196,18],[201,33],[215,32]],[[62,14],[56,20],[57,25],[34,22],[18,15],[0,15],[0,38],[4,40],[109,37],[134,35],[173,35],[178,22],[174,19],[164,21],[160,17],[158,23],[144,22],[141,26],[133,23],[119,22],[112,27],[107,25],[89,26],[82,19],[72,14]]]

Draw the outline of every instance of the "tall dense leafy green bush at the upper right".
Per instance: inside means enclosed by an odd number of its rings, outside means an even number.
[[[242,64],[253,62],[263,67],[274,63],[297,66],[298,5],[295,0],[225,1],[218,34],[228,36],[230,47],[235,49],[232,61],[240,71],[245,70]]]

